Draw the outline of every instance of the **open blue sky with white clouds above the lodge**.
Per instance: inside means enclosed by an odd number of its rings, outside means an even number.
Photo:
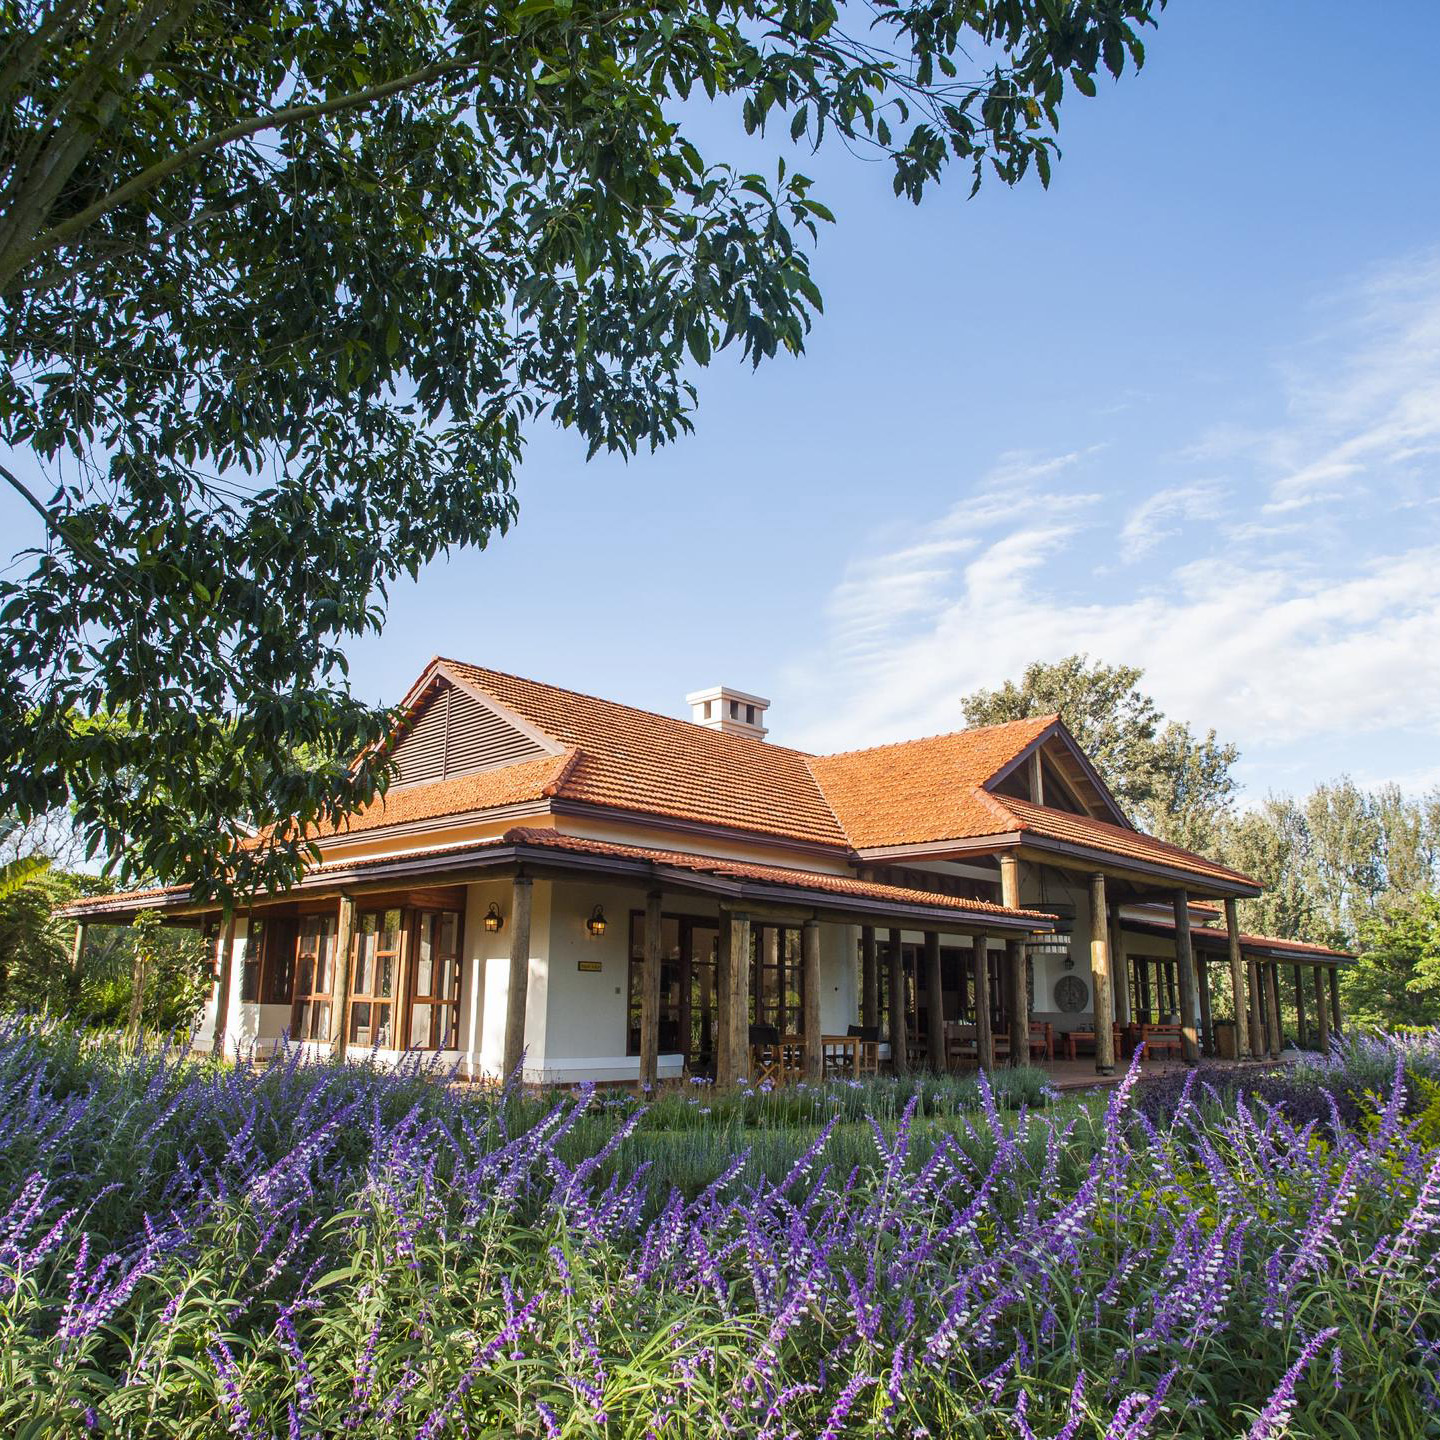
[[[516,531],[396,593],[359,690],[435,652],[672,713],[727,683],[841,749],[1086,649],[1251,795],[1440,783],[1440,6],[1174,0],[1148,43],[1067,99],[1048,193],[806,157],[808,354],[720,357],[628,464],[537,432]]]

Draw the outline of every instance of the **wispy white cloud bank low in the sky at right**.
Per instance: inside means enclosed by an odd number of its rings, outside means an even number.
[[[824,654],[796,667],[809,706],[798,743],[955,729],[966,691],[1074,651],[1143,665],[1168,713],[1276,769],[1320,740],[1354,749],[1356,772],[1384,769],[1377,737],[1440,730],[1428,504],[1440,494],[1440,262],[1369,282],[1305,360],[1269,431],[1175,438],[1174,464],[1202,458],[1210,475],[1228,449],[1224,481],[1166,475],[1123,508],[1080,488],[1090,452],[1007,455],[907,540],[857,557],[831,595]],[[1188,560],[1148,566],[1142,582],[1102,570],[1099,526],[1119,531],[1128,559],[1182,534]]]

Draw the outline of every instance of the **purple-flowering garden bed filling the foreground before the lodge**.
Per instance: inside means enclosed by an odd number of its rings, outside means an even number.
[[[644,1109],[12,1024],[0,1433],[1437,1436],[1436,1074]]]

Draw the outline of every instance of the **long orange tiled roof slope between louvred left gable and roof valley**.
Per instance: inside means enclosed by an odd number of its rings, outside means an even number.
[[[564,799],[845,848],[799,750],[462,661],[445,664],[577,752],[556,789]]]

